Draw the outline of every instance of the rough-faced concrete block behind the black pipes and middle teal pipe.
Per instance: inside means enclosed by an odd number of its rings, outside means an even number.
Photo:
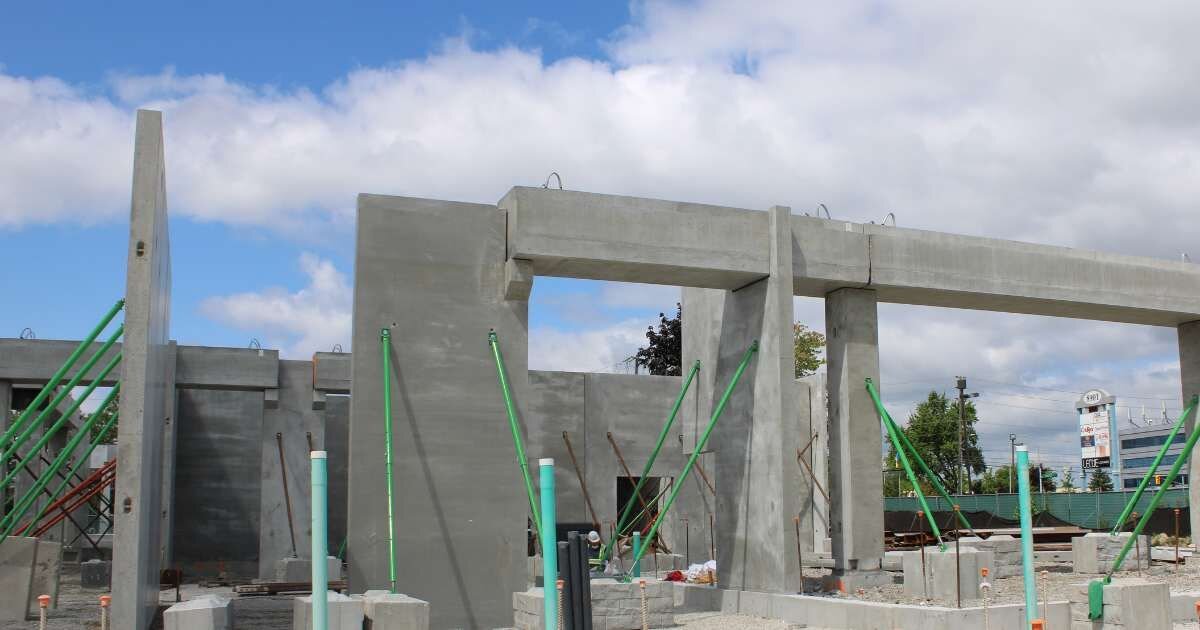
[[[642,587],[635,580],[592,581],[592,624],[604,630],[637,630],[642,628]],[[512,625],[516,630],[542,630],[542,589],[530,588],[512,594]],[[649,628],[674,625],[674,584],[646,581],[646,623]]]

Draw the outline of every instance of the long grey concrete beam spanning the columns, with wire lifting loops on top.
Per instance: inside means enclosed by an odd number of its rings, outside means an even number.
[[[516,187],[509,258],[536,275],[736,289],[769,271],[766,212]],[[796,295],[1175,326],[1200,319],[1200,265],[792,217]]]

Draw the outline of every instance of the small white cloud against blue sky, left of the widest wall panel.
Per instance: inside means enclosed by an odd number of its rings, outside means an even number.
[[[298,292],[270,288],[204,300],[200,311],[209,318],[258,336],[292,359],[307,359],[335,344],[350,350],[353,289],[346,275],[329,260],[300,257],[308,284]]]

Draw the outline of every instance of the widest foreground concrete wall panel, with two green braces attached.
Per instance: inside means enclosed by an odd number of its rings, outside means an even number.
[[[529,505],[487,343],[494,329],[524,418],[528,305],[502,299],[504,226],[490,205],[359,197],[349,587],[388,586],[379,355],[388,326],[396,556],[407,568],[397,589],[430,602],[434,628],[506,625],[526,583]]]

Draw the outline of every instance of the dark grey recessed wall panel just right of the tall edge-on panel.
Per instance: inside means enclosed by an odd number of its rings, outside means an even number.
[[[178,401],[175,565],[258,577],[263,392],[181,389]]]

